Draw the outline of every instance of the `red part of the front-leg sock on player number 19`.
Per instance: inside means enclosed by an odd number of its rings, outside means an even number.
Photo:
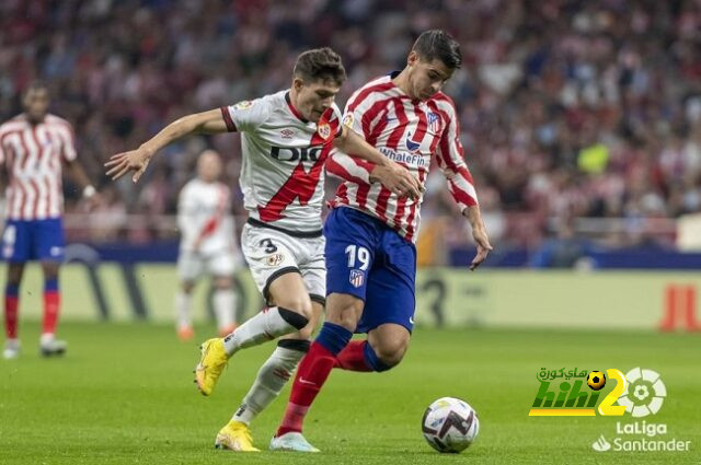
[[[280,427],[277,429],[277,437],[291,431],[302,431],[307,411],[329,377],[335,364],[335,359],[333,353],[321,344],[312,342],[309,352],[304,356],[297,370],[285,416]]]

